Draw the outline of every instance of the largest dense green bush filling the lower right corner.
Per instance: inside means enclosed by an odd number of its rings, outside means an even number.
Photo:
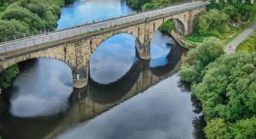
[[[208,122],[208,138],[255,138],[256,54],[224,55],[192,87]],[[217,118],[217,119],[216,119]]]

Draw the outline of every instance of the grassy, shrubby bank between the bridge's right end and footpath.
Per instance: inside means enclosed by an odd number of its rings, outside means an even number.
[[[206,12],[201,13],[191,35],[184,41],[199,45],[207,37],[218,37],[224,45],[228,44],[241,31],[256,22],[256,5],[246,3],[212,3]]]

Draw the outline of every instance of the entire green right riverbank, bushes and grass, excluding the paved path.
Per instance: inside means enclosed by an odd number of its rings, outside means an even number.
[[[251,21],[244,21],[247,24],[234,28],[237,22],[231,20],[230,14],[225,13],[224,8],[210,9],[199,17],[194,34],[186,36],[187,41],[197,47],[187,54],[179,75],[183,81],[192,84],[192,93],[201,102],[202,113],[207,121],[205,127],[207,138],[256,137],[253,134],[256,132],[255,128],[251,128],[256,123],[254,110],[256,92],[254,87],[252,88],[255,82],[251,77],[256,69],[255,54],[240,52],[230,55],[223,52],[223,47],[229,46],[227,45],[229,42],[232,44],[231,40],[236,36],[241,36],[233,41],[237,42],[237,45],[246,38],[248,35],[246,29],[255,23],[254,16],[255,13],[250,16],[251,19],[247,19]],[[216,19],[224,22],[216,23]],[[209,26],[208,24],[211,27],[207,29],[205,26]],[[223,24],[226,25],[219,28],[219,25]],[[230,31],[232,29],[233,31]],[[249,32],[252,30],[249,29]],[[206,39],[208,36],[217,38],[209,40]],[[247,50],[249,47],[248,50],[252,50],[253,45],[250,44],[254,42],[253,40],[252,36],[242,43],[241,49]]]

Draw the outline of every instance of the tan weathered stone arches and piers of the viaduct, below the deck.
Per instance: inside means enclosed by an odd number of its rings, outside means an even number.
[[[0,56],[0,72],[9,66],[26,61],[32,58],[55,58],[67,64],[73,71],[73,86],[81,88],[87,85],[88,64],[90,55],[96,48],[109,37],[128,33],[136,36],[137,56],[141,59],[150,58],[150,41],[154,32],[158,30],[168,19],[174,19],[177,31],[182,35],[191,33],[195,18],[205,8],[198,8],[189,12],[176,15],[162,15],[154,19],[144,19],[129,25],[120,25],[115,28],[109,28],[102,31],[84,34],[82,36],[73,36],[60,41],[50,42],[45,45],[36,46],[27,51],[5,53]]]

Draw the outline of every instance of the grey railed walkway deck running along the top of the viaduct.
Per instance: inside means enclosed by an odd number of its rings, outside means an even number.
[[[99,31],[101,29],[110,28],[117,25],[123,25],[125,23],[131,23],[146,18],[152,18],[162,14],[171,14],[173,12],[186,9],[200,8],[202,6],[206,6],[207,4],[207,2],[179,3],[167,8],[162,7],[150,11],[139,11],[139,13],[134,13],[127,16],[120,16],[118,18],[108,18],[106,20],[101,20],[97,22],[85,23],[60,31],[46,30],[39,31],[38,34],[32,33],[29,35],[25,34],[21,36],[14,36],[12,40],[8,38],[5,39],[4,42],[0,42],[0,53],[6,53],[24,47],[33,47],[46,42],[54,42],[73,36],[79,36],[84,33]]]

